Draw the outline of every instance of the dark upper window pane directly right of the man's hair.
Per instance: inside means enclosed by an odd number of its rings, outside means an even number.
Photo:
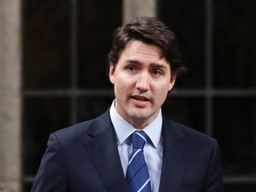
[[[204,87],[204,0],[161,0],[158,10],[161,20],[178,36],[184,64],[188,67],[188,73],[178,79],[178,87]]]

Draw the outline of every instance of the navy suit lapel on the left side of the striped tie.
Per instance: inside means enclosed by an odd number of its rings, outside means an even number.
[[[85,147],[92,156],[108,191],[125,191],[126,183],[120,157],[116,146],[116,136],[108,112],[92,124],[92,140]]]

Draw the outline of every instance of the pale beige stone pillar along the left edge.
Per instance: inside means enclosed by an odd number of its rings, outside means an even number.
[[[20,191],[20,1],[0,1],[0,191]]]

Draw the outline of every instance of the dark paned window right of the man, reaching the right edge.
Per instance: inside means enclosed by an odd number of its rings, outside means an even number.
[[[158,4],[158,16],[177,34],[188,66],[166,111],[219,141],[226,192],[256,190],[256,13],[252,7],[252,1],[223,0]]]

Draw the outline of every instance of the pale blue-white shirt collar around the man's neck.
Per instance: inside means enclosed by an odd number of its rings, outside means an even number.
[[[120,116],[115,108],[115,100],[112,102],[110,107],[110,118],[112,124],[114,125],[114,129],[116,131],[116,138],[117,138],[117,146],[121,145],[136,129],[129,124],[122,116]],[[152,141],[154,148],[157,148],[161,139],[161,132],[162,132],[162,111],[160,109],[158,116],[156,119],[148,124],[143,131],[148,134],[148,137]]]

